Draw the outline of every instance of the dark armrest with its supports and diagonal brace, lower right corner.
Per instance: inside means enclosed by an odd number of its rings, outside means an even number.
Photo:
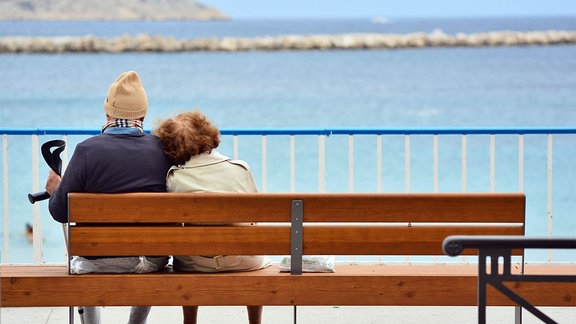
[[[570,237],[524,237],[524,236],[449,236],[443,243],[444,252],[450,256],[460,255],[464,249],[478,250],[478,323],[486,323],[486,300],[488,285],[528,310],[548,324],[557,324],[529,300],[507,286],[506,283],[542,282],[570,283],[576,286],[576,274],[515,274],[512,273],[514,249],[576,249],[576,238]],[[500,263],[502,262],[502,263]],[[488,266],[489,265],[489,266]],[[571,299],[572,296],[565,296]],[[576,306],[576,301],[574,301]]]

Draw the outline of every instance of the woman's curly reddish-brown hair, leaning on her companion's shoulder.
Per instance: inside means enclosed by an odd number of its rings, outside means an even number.
[[[220,145],[220,131],[199,110],[160,121],[153,133],[175,165],[186,163],[192,156],[210,153]]]

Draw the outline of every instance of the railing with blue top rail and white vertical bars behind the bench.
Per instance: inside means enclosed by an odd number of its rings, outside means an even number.
[[[9,253],[11,241],[16,241],[12,245],[17,251],[30,250],[14,234],[19,228],[10,227],[27,214],[32,214],[35,229],[32,262],[45,262],[54,249],[64,254],[63,245],[51,242],[55,235],[43,234],[53,228],[49,224],[42,229],[45,208],[41,213],[38,204],[23,202],[26,193],[39,191],[40,170],[46,169],[39,161],[39,142],[54,137],[66,140],[65,166],[75,142],[99,133],[100,129],[90,128],[0,128],[1,262],[11,262],[20,253]],[[246,128],[221,129],[221,134],[219,150],[249,161],[264,192],[521,191],[528,197],[527,234],[576,236],[571,215],[576,209],[571,196],[576,183],[576,127]],[[28,144],[22,145],[28,142],[30,150]],[[23,179],[31,179],[32,185]],[[549,253],[536,259],[552,261],[553,257]]]

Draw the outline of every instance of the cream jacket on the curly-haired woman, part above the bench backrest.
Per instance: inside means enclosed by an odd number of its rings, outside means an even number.
[[[173,166],[166,176],[169,192],[258,192],[248,164],[212,150]]]

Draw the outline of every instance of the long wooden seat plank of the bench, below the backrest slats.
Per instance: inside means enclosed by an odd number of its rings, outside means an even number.
[[[37,271],[42,273],[46,267],[50,266],[39,267]],[[72,276],[66,273],[66,267],[59,269],[59,276],[3,273],[2,306],[69,306],[79,302],[85,306],[475,306],[477,303],[476,265],[337,266],[336,273],[301,276],[279,273],[276,267],[226,274]],[[537,270],[535,267],[536,273]],[[573,267],[566,267],[566,271],[571,270]],[[550,267],[548,271],[559,272],[562,268]],[[540,306],[569,307],[574,306],[576,299],[576,283],[517,283],[514,289]],[[493,289],[488,296],[488,305],[513,305]]]

